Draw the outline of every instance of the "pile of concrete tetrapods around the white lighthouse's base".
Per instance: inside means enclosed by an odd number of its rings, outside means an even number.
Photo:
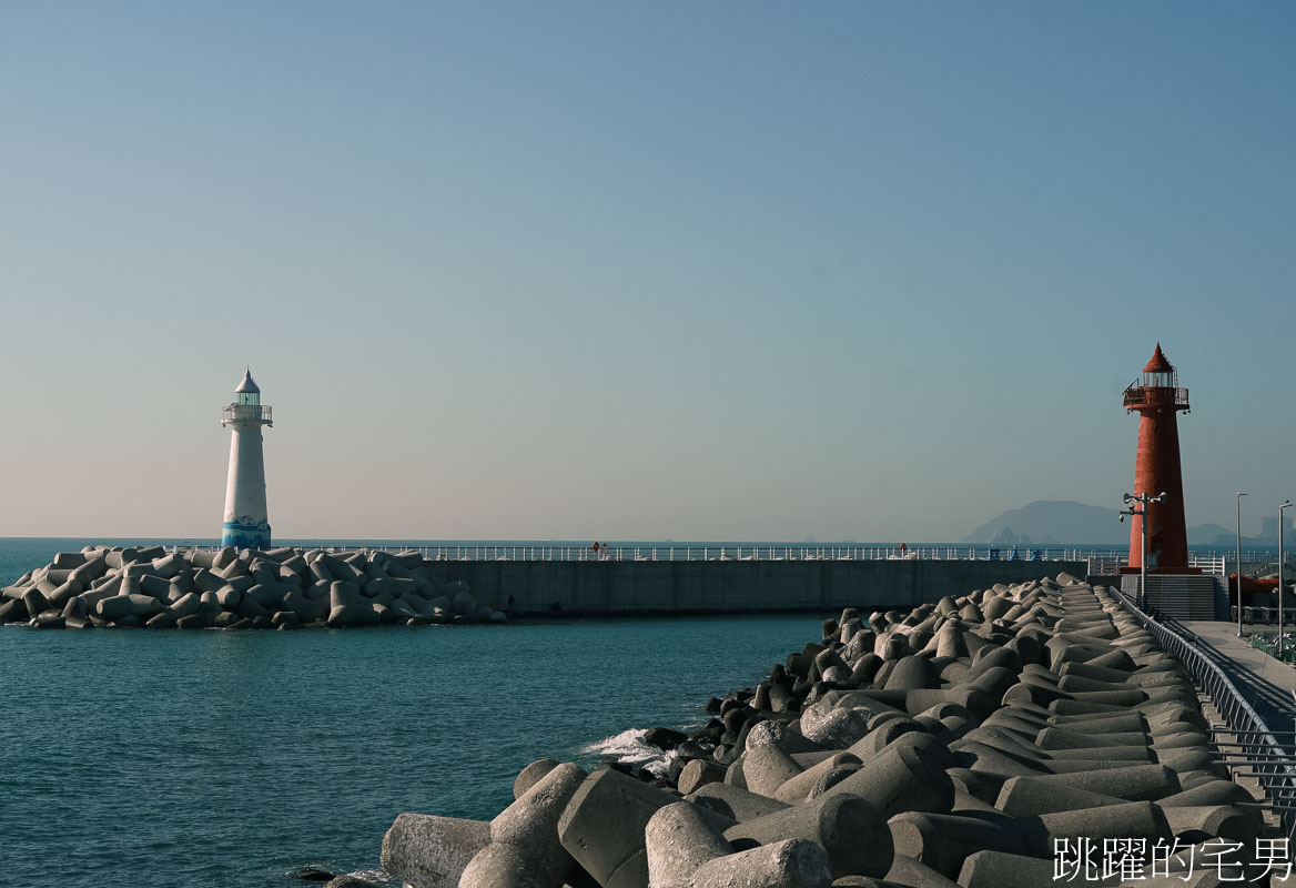
[[[0,624],[35,629],[298,629],[508,622],[419,552],[86,547],[0,590]]]

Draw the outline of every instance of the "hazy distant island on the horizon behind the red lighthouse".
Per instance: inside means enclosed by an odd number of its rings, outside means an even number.
[[[1118,517],[1120,509],[1115,508],[1089,506],[1069,499],[1038,499],[990,519],[964,537],[963,542],[1001,546],[1059,543],[1124,546],[1130,539],[1130,525],[1121,524]],[[1188,528],[1190,546],[1220,546],[1232,542],[1234,532],[1218,524]]]

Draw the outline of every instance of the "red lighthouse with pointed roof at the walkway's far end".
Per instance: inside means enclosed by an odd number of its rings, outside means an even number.
[[[1125,389],[1125,410],[1138,411],[1138,462],[1134,467],[1134,495],[1156,497],[1130,521],[1130,569],[1143,564],[1143,521],[1147,525],[1147,569],[1150,573],[1195,573],[1188,568],[1188,534],[1183,521],[1183,471],[1179,467],[1179,425],[1177,414],[1188,411],[1188,390],[1179,388],[1179,373],[1156,344],[1152,360],[1138,381]]]

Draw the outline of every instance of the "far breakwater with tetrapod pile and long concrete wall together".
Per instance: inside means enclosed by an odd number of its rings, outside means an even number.
[[[430,560],[419,551],[86,546],[0,590],[35,627],[294,629],[504,622],[513,616],[824,612],[918,607],[1082,561]]]

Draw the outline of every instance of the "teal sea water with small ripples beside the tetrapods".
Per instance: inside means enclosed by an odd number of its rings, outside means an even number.
[[[31,541],[0,541],[0,582],[83,542],[53,541],[29,563]],[[400,812],[490,818],[535,758],[592,766],[632,751],[639,729],[700,723],[710,696],[758,681],[819,618],[0,627],[5,880],[285,888],[305,884],[285,872],[306,865],[376,875]]]

